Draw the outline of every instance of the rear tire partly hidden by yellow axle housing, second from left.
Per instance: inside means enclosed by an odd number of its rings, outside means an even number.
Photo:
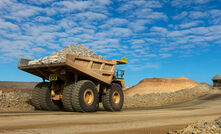
[[[41,87],[40,93],[40,104],[42,110],[48,111],[57,111],[60,110],[60,106],[55,101],[51,100],[51,90],[50,90],[51,83],[43,83]]]

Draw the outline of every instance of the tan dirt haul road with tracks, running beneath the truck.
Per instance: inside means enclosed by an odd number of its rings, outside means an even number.
[[[134,134],[166,133],[197,120],[221,116],[221,91],[200,99],[157,109],[122,112],[0,113],[0,134]]]

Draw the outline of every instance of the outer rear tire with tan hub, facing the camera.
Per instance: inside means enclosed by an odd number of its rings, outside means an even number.
[[[93,93],[91,104],[85,102],[85,93],[87,90]],[[77,112],[96,112],[99,102],[96,85],[90,80],[81,80],[75,84],[72,92],[72,105]]]

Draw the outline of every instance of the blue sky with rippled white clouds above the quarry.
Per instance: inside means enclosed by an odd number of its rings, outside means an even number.
[[[0,0],[0,81],[40,81],[18,59],[71,44],[126,57],[127,85],[180,76],[211,84],[221,74],[221,0]]]

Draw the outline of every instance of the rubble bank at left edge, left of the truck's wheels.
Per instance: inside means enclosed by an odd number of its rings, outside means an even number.
[[[0,90],[0,112],[34,111],[30,100],[31,93]]]

